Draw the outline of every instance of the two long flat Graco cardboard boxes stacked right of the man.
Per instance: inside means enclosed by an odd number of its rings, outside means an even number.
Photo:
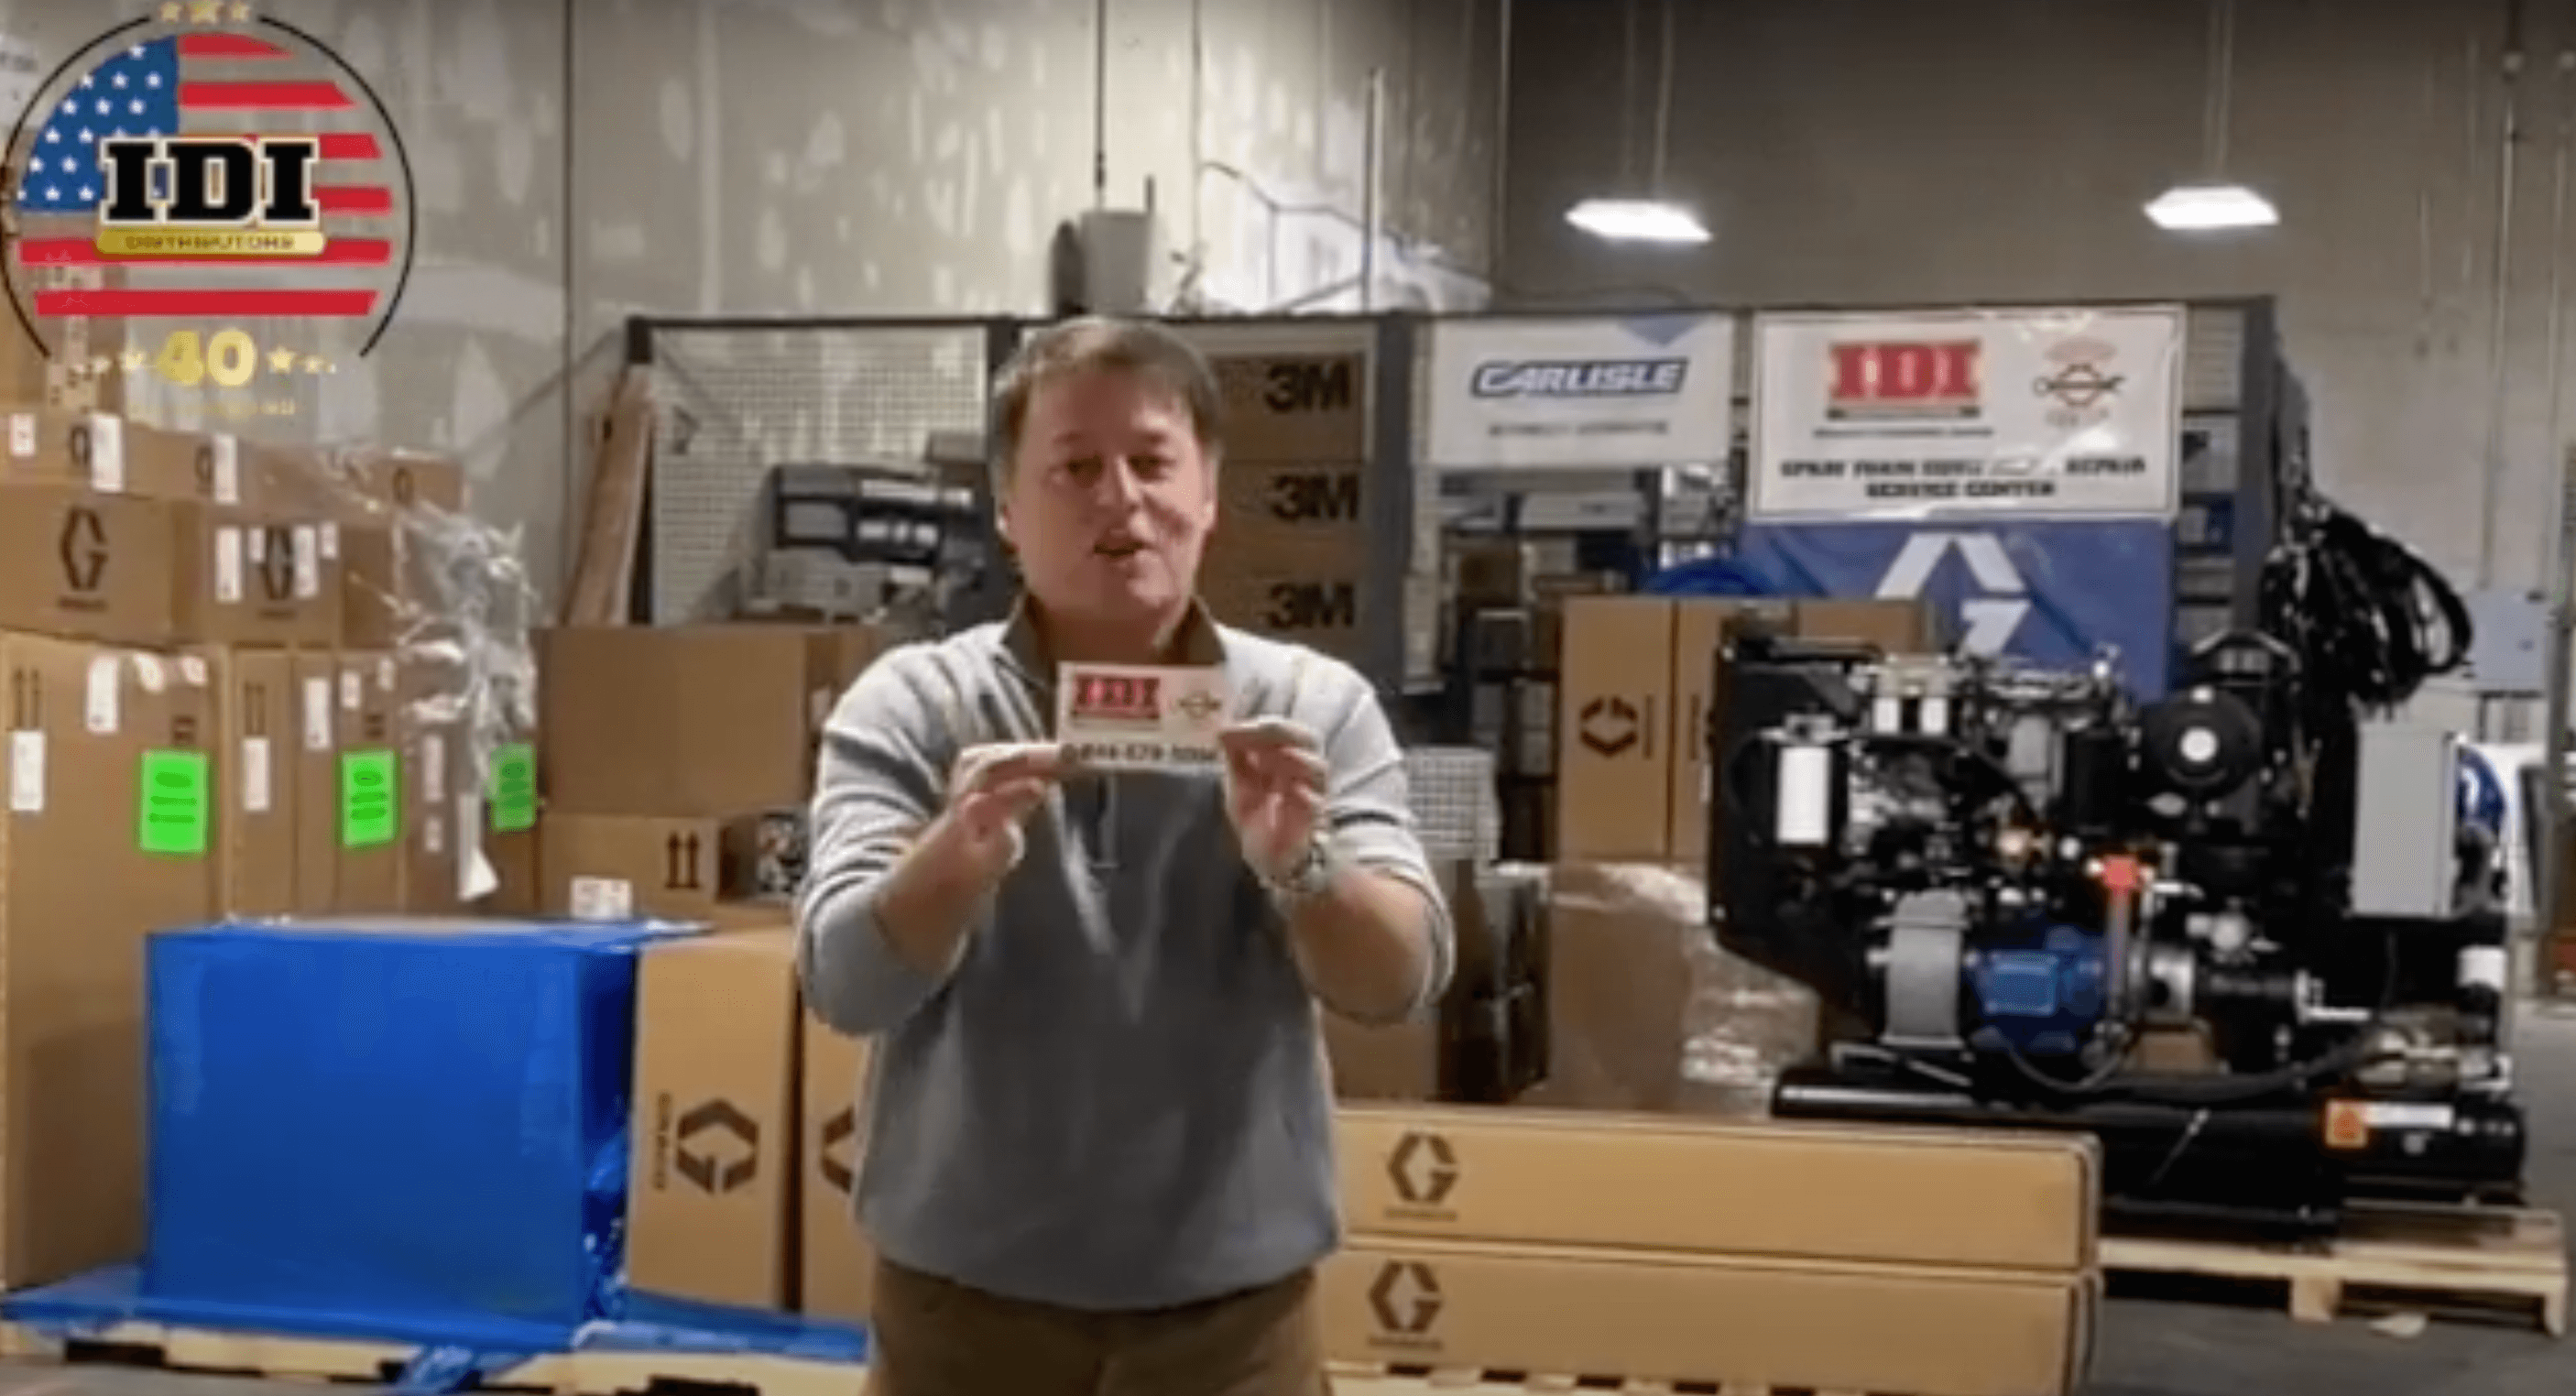
[[[1345,1108],[1332,1357],[1685,1388],[2063,1396],[2089,1138]]]

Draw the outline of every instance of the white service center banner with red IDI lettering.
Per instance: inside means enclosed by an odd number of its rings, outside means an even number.
[[[2174,518],[2182,307],[1765,314],[1747,513]]]

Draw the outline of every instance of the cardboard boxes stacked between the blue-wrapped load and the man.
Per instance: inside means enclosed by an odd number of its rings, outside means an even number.
[[[629,1283],[863,1319],[850,1221],[860,1043],[809,1020],[788,894],[814,739],[866,626],[595,626],[538,636],[536,909],[716,927],[644,953]]]

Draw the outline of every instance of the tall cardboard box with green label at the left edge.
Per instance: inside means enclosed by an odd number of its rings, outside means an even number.
[[[144,1241],[144,938],[214,912],[209,665],[0,634],[0,1285]]]

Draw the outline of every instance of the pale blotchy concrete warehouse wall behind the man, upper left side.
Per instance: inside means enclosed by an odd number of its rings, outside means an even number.
[[[49,70],[152,8],[0,3],[0,41]],[[260,10],[376,88],[420,188],[399,325],[265,430],[464,451],[546,587],[621,317],[1043,312],[1048,237],[1092,203],[1092,0]],[[1386,229],[1484,268],[1492,0],[1108,10],[1110,203],[1151,180],[1203,291],[1262,307],[1358,270],[1370,70]]]

